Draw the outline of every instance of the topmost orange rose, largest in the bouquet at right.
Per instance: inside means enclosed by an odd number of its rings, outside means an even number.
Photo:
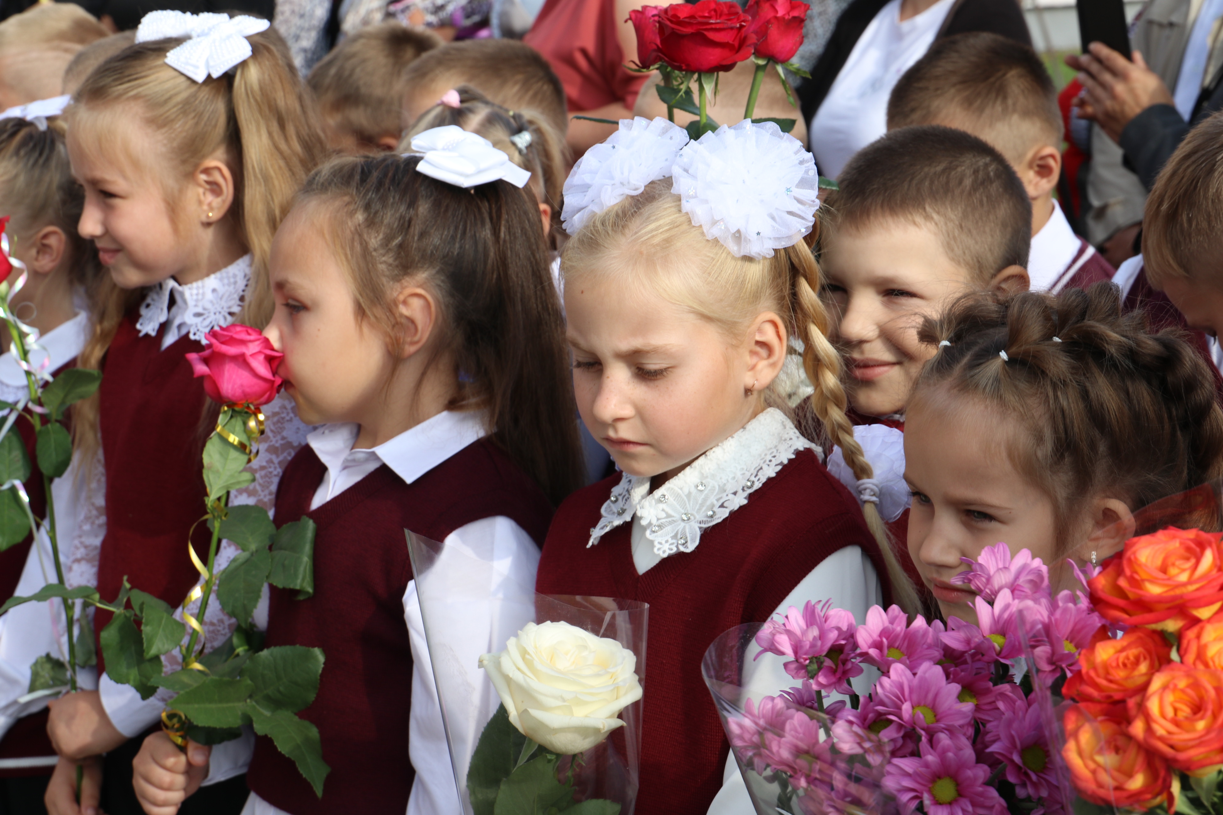
[[[1223,606],[1223,534],[1168,527],[1125,541],[1087,585],[1106,619],[1177,632]]]

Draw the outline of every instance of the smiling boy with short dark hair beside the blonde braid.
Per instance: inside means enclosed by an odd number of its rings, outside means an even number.
[[[841,171],[821,208],[823,296],[862,423],[903,424],[936,348],[923,316],[981,290],[1025,291],[1032,205],[1007,160],[942,126],[892,131]]]

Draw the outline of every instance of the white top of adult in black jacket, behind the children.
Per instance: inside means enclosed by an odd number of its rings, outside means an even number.
[[[855,153],[887,132],[892,89],[929,50],[953,2],[938,0],[901,21],[900,0],[892,0],[857,38],[807,128],[822,175],[835,178]]]

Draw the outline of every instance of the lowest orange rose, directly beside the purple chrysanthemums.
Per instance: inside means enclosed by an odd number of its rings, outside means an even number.
[[[1093,804],[1139,809],[1167,800],[1168,811],[1175,811],[1178,778],[1125,729],[1124,705],[1071,705],[1063,723],[1062,758],[1080,795]]]

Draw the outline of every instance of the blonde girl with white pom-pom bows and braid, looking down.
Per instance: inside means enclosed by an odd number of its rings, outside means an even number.
[[[773,125],[689,142],[638,117],[565,185],[574,390],[623,473],[560,506],[536,588],[651,606],[638,815],[703,813],[723,786],[714,638],[810,599],[914,607],[873,505],[828,473],[778,381],[797,337],[810,413],[868,479],[804,241],[817,180]]]

